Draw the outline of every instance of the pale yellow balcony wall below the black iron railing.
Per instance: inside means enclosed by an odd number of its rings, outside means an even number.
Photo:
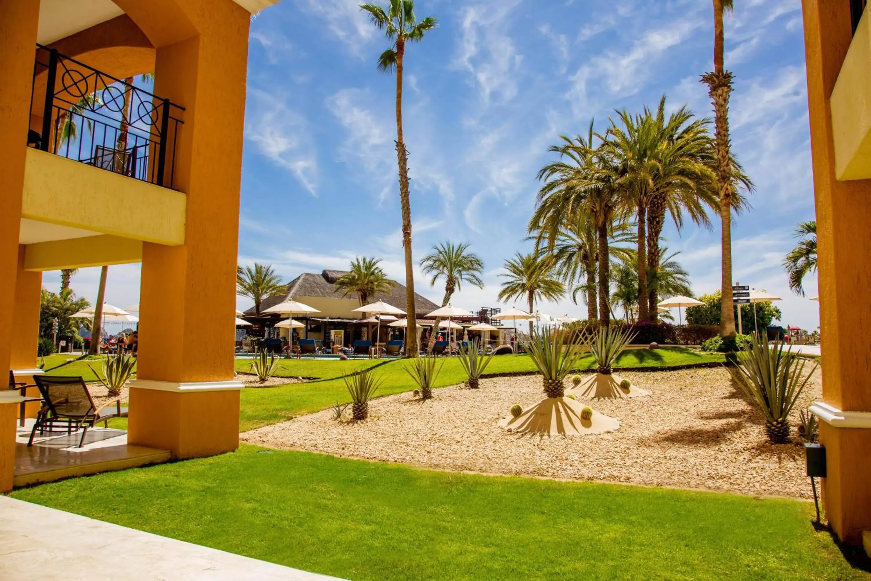
[[[185,242],[186,196],[37,149],[27,149],[21,215],[178,246]]]

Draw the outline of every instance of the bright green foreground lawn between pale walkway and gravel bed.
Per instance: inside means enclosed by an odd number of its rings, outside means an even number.
[[[12,497],[348,579],[867,579],[810,503],[238,452]]]

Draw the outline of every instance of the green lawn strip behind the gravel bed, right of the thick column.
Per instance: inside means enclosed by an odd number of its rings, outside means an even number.
[[[456,357],[444,358],[442,371],[436,378],[436,387],[445,387],[462,383],[466,376],[460,361]],[[723,362],[722,354],[709,354],[692,351],[686,348],[668,349],[628,349],[618,359],[619,367],[666,367],[674,365],[689,365],[694,363]],[[332,368],[337,363],[357,363],[348,367]],[[282,363],[286,368],[293,369],[294,364],[313,366],[320,364],[320,369],[315,369],[322,377],[332,375],[334,379],[319,382],[295,383],[282,385],[274,388],[249,388],[244,389],[241,395],[240,431],[260,428],[275,422],[283,422],[296,415],[312,414],[321,409],[327,409],[335,402],[346,403],[350,401],[345,382],[335,374],[348,374],[356,368],[362,368],[362,361],[296,361],[285,360]],[[417,386],[412,381],[404,366],[406,361],[388,361],[375,369],[375,373],[381,375],[383,382],[378,390],[378,396],[393,395],[410,391]],[[589,369],[594,365],[592,357],[585,355],[579,362],[579,369]],[[334,370],[335,369],[335,370]],[[536,367],[530,360],[529,355],[498,355],[490,361],[486,373],[531,373]],[[288,375],[298,375],[288,373]],[[314,375],[314,374],[313,374]]]

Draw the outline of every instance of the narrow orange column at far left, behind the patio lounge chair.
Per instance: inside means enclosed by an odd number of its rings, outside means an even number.
[[[43,274],[24,270],[25,249],[24,244],[18,245],[10,368],[13,369],[17,381],[33,383],[33,375],[42,373],[37,369],[37,341],[39,338],[39,301]],[[35,387],[27,388],[25,395],[38,396],[39,390]],[[26,404],[26,417],[36,417],[37,411],[39,411],[39,402]]]

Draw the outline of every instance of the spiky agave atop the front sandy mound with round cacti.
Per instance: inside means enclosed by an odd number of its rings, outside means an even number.
[[[562,397],[565,394],[563,380],[571,373],[577,360],[584,355],[576,334],[562,327],[545,325],[541,330],[521,338],[523,348],[543,375],[544,393],[548,397]]]

